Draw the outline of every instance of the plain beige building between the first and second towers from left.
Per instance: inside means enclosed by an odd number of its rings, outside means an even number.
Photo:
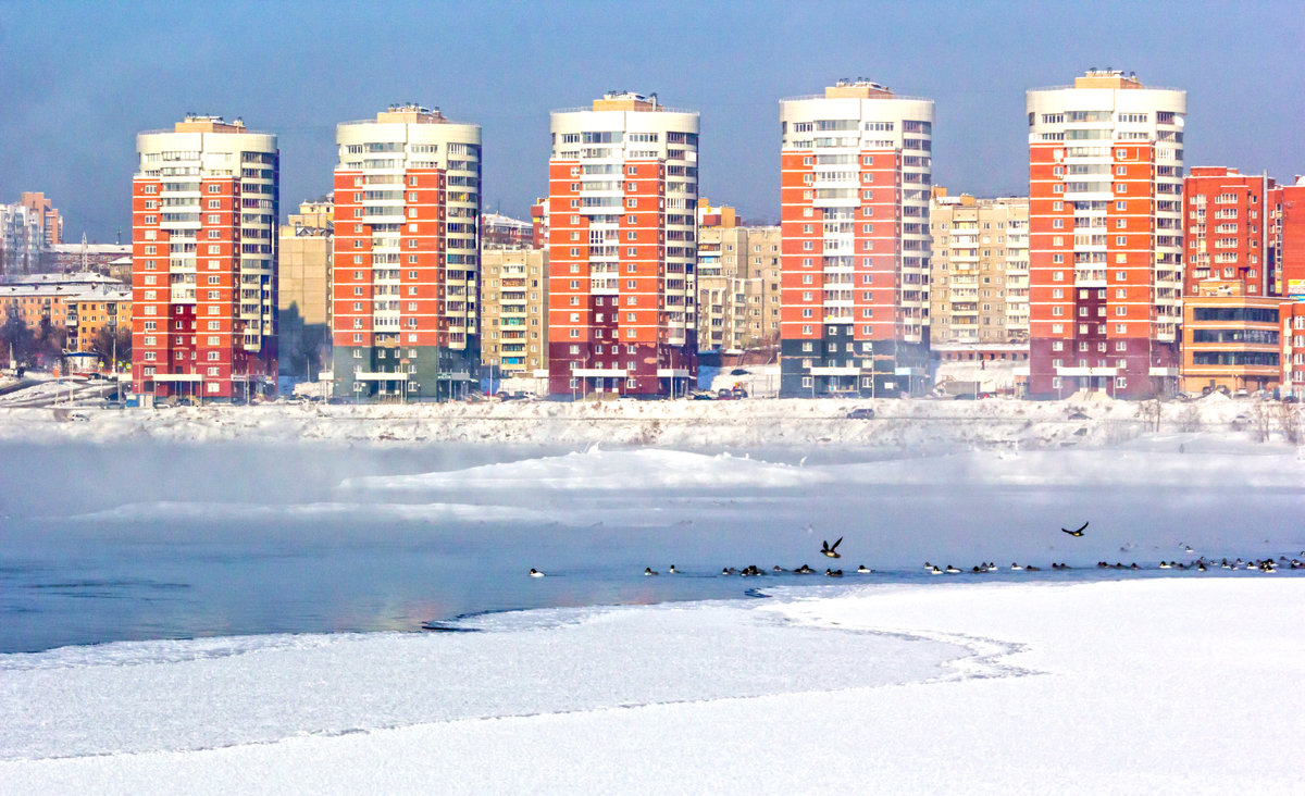
[[[331,218],[330,197],[301,202],[278,231],[279,363],[287,375],[316,372],[330,361]]]

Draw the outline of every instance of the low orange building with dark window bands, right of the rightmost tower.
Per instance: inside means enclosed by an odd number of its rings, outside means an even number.
[[[1280,304],[1237,278],[1198,282],[1182,303],[1182,389],[1276,389]]]

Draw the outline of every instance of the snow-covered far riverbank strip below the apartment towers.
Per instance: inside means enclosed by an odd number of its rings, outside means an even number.
[[[873,420],[848,419],[872,407]],[[1159,418],[1154,412],[1159,412]],[[1066,399],[984,401],[609,401],[419,406],[282,403],[166,410],[0,408],[0,441],[508,442],[539,445],[1047,449],[1118,444],[1156,431],[1259,441],[1298,435],[1298,405],[1211,395],[1190,403]]]

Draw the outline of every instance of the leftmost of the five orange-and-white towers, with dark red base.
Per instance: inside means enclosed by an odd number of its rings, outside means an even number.
[[[277,137],[187,116],[136,137],[132,381],[245,398],[277,377]]]

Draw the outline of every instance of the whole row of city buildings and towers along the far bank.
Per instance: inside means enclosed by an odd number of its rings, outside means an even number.
[[[984,197],[933,183],[932,99],[782,99],[778,226],[699,194],[699,115],[656,94],[553,111],[529,219],[484,211],[482,128],[440,108],[338,124],[333,191],[284,223],[277,136],[192,114],[137,136],[129,243],[0,205],[0,360],[145,405],[680,398],[702,368],[792,398],[1300,397],[1305,179],[1188,167],[1186,93],[1133,73],[1026,111],[1028,193]]]

